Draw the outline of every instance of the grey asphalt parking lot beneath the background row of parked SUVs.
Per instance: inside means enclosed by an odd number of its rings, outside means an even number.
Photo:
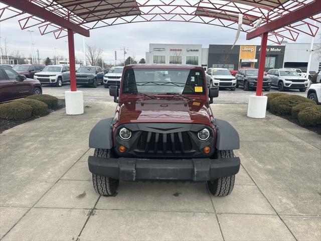
[[[43,85],[44,94],[51,94],[58,98],[64,98],[65,91],[69,89],[69,84],[64,84],[62,87]],[[113,101],[113,97],[109,96],[109,89],[104,88],[103,85],[98,85],[97,88],[78,85],[77,89],[83,91],[84,101]],[[269,92],[278,92],[278,90],[272,88]],[[263,93],[269,92],[264,91]],[[286,93],[298,94],[306,97],[306,92],[299,92],[298,90],[288,90]],[[218,104],[247,104],[249,95],[251,94],[255,94],[255,91],[244,91],[242,88],[237,88],[235,91],[223,89],[220,90],[219,97],[215,98],[214,101]]]

